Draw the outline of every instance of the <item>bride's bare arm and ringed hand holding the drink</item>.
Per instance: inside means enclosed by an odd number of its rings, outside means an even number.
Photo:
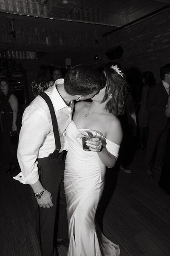
[[[118,119],[114,119],[112,122],[109,122],[107,125],[107,139],[115,143],[116,145],[120,145],[122,142],[122,128]],[[117,157],[111,154],[107,148],[103,145],[103,149],[101,152],[98,152],[96,145],[101,147],[102,141],[99,138],[92,139],[93,141],[89,141],[87,144],[91,151],[97,152],[102,163],[111,168],[115,165]],[[118,152],[117,152],[118,153]]]

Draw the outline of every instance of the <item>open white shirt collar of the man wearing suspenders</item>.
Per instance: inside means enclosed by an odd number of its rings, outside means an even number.
[[[52,90],[51,90],[51,98],[53,100],[55,110],[58,111],[65,107],[70,108],[69,106],[67,106],[65,104],[64,100],[60,96],[60,94],[56,88],[57,84],[64,84],[64,79],[63,78],[57,79],[52,87]],[[71,101],[70,106],[72,106],[72,103],[73,103],[73,101]]]

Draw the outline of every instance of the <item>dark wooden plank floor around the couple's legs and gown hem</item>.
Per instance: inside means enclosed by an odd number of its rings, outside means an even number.
[[[170,256],[170,196],[157,185],[159,171],[154,172],[153,180],[145,176],[143,155],[136,151],[132,173],[121,170],[117,184],[116,175],[111,176],[110,184],[113,189],[116,184],[116,189],[105,211],[103,231],[119,244],[121,256]],[[7,175],[1,166],[0,256],[41,256],[29,186],[13,180],[13,175]],[[105,192],[108,197],[111,188]],[[102,212],[102,206],[98,211],[102,217],[100,209]],[[66,255],[67,249],[60,247],[59,256]]]

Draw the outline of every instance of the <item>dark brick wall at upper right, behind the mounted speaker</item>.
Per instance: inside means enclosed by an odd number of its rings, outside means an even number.
[[[159,68],[170,63],[170,10],[104,38],[107,38],[107,49],[117,45],[124,49],[122,58],[115,60],[124,70],[137,67],[141,72],[152,71],[158,82]],[[104,51],[101,59],[109,61]]]

